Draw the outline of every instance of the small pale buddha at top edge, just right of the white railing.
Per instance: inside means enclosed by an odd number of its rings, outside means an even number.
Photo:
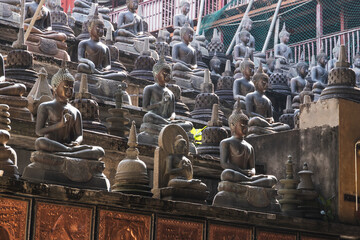
[[[189,18],[188,13],[190,11],[190,2],[188,0],[182,0],[180,2],[180,14],[174,16],[174,34],[170,42],[170,46],[181,42],[180,29],[188,23],[191,28],[194,28],[194,22]]]

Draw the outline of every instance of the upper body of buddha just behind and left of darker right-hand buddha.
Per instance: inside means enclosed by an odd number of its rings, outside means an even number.
[[[254,83],[251,81],[254,76],[255,64],[249,58],[245,58],[240,64],[243,77],[235,79],[233,86],[234,99],[245,101],[245,96],[248,93],[255,91]]]

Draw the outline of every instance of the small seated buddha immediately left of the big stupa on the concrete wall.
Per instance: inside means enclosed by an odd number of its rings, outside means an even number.
[[[320,97],[322,90],[326,87],[328,82],[328,71],[326,70],[326,63],[328,62],[328,56],[325,52],[321,51],[317,55],[317,65],[311,69],[311,80],[313,84],[314,100]]]

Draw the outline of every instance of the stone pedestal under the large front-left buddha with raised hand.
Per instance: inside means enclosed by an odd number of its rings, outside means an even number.
[[[102,173],[104,163],[98,160],[70,158],[36,151],[22,178],[32,182],[59,184],[69,187],[109,190],[110,183]]]

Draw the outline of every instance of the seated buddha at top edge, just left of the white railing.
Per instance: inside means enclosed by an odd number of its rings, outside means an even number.
[[[128,11],[119,14],[117,30],[115,32],[116,41],[125,41],[124,38],[141,39],[148,37],[150,42],[155,42],[155,38],[144,33],[143,19],[136,11],[139,6],[138,0],[126,0]]]

